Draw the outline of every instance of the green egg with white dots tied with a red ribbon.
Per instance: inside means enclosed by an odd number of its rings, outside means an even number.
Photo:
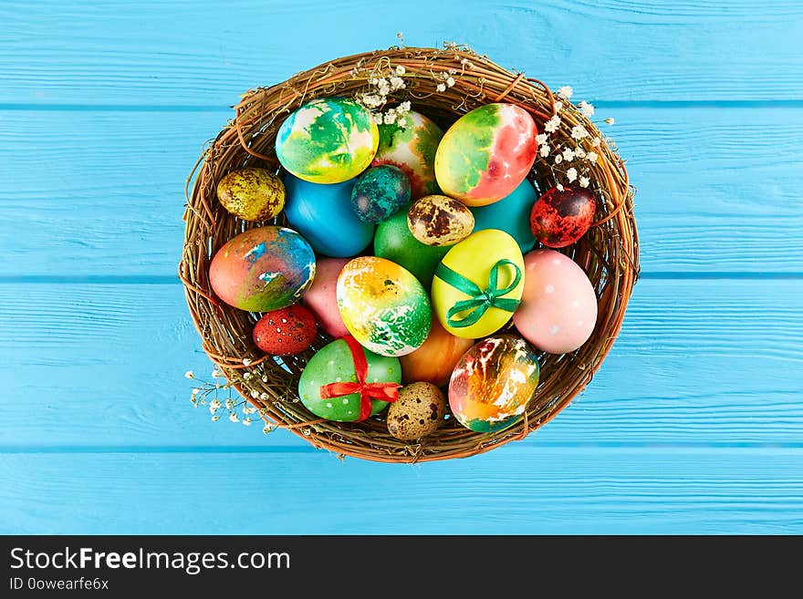
[[[366,383],[391,383],[401,387],[401,367],[396,357],[377,356],[357,346],[368,365]],[[307,366],[298,379],[298,398],[304,407],[319,418],[339,422],[356,422],[360,419],[360,393],[349,393],[336,397],[323,397],[326,386],[332,383],[356,383],[357,369],[354,356],[345,339],[336,339],[321,347],[309,358]],[[370,414],[381,412],[388,405],[381,399],[370,400]]]

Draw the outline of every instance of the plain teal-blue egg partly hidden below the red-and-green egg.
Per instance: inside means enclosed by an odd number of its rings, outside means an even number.
[[[499,229],[516,240],[522,253],[529,252],[536,244],[536,238],[530,230],[530,212],[537,199],[533,184],[528,179],[521,181],[513,193],[500,201],[471,209],[474,213],[474,231]]]

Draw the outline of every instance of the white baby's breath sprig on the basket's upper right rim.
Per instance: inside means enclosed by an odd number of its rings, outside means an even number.
[[[552,174],[555,176],[556,188],[559,191],[565,189],[564,185],[577,184],[587,188],[591,183],[590,166],[597,163],[600,155],[599,149],[602,139],[600,136],[592,135],[585,126],[578,124],[572,126],[569,131],[570,145],[561,143],[552,138],[564,124],[566,110],[577,110],[586,119],[591,119],[594,115],[594,105],[586,100],[580,101],[577,105],[571,103],[574,90],[570,86],[558,88],[558,100],[554,104],[554,113],[550,119],[544,123],[544,132],[536,137],[538,143],[538,157],[542,160]],[[571,107],[571,108],[569,108]],[[595,125],[599,121],[591,121]],[[612,118],[604,119],[605,123],[612,125]]]

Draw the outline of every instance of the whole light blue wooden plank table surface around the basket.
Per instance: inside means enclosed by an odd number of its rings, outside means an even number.
[[[248,88],[457,41],[611,116],[642,278],[584,395],[381,465],[190,404],[183,181]],[[0,532],[803,532],[803,4],[3,0]]]

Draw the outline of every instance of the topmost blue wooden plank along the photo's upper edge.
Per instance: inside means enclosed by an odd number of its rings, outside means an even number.
[[[370,26],[366,26],[366,19]],[[801,100],[803,6],[743,0],[3,3],[0,103],[228,106],[327,60],[469,44],[598,100]],[[130,32],[136,35],[130,35]],[[334,35],[334,34],[337,35]]]

